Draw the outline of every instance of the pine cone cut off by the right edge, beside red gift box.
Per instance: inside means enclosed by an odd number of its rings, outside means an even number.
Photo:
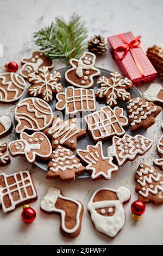
[[[163,80],[163,45],[154,45],[147,49],[147,56]]]

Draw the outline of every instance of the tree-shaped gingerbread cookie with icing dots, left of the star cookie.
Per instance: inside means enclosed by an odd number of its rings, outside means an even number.
[[[84,166],[70,149],[58,146],[51,155],[46,178],[60,178],[64,181],[74,180],[84,170]]]

